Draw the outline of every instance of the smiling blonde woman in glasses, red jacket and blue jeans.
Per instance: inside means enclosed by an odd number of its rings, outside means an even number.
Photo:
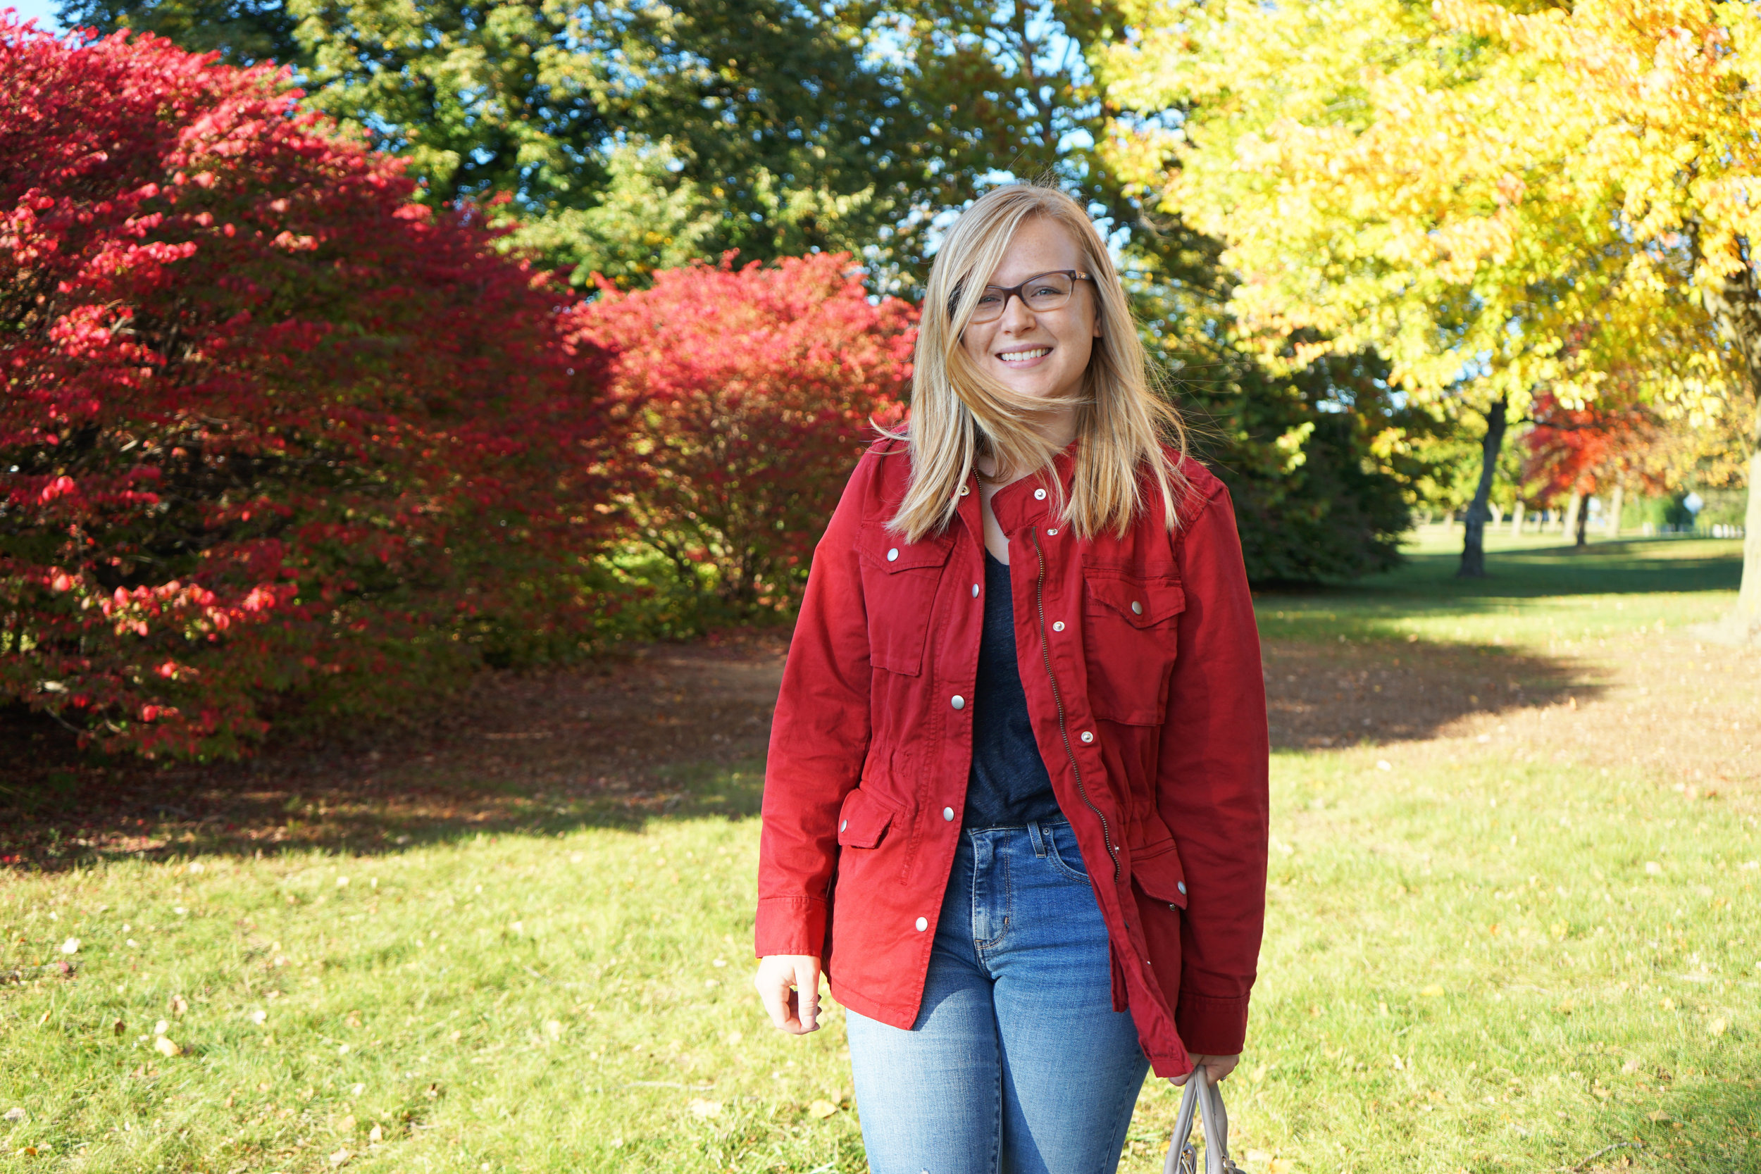
[[[757,987],[845,1007],[875,1174],[1113,1170],[1145,1068],[1234,1067],[1266,701],[1229,495],[1051,188],[930,271],[909,429],[814,554],[771,727]]]

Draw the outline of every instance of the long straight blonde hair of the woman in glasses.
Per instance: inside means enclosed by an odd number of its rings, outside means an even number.
[[[960,345],[984,283],[1002,264],[1016,231],[1044,216],[1062,224],[1083,252],[1094,276],[1101,320],[1083,385],[1071,400],[1034,400],[979,370]],[[1058,449],[1034,429],[1046,408],[1074,407],[1076,475],[1069,500],[1053,475]],[[886,431],[886,429],[882,429]],[[986,192],[947,231],[930,266],[930,289],[917,324],[910,380],[910,421],[886,431],[907,444],[910,488],[889,528],[916,542],[953,521],[974,459],[984,451],[997,468],[1039,473],[1057,495],[1060,525],[1079,537],[1116,530],[1120,537],[1143,510],[1143,472],[1162,498],[1169,528],[1187,481],[1164,442],[1187,452],[1185,428],[1175,407],[1152,385],[1106,243],[1083,208],[1064,192],[1037,183],[1011,183]]]

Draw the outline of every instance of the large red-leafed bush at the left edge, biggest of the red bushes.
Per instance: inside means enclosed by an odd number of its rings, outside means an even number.
[[[229,753],[586,623],[567,290],[285,76],[0,14],[0,699]]]

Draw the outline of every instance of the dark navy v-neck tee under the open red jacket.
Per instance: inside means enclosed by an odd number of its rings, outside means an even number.
[[[972,774],[962,827],[1021,827],[1062,818],[1021,692],[1009,567],[990,551],[984,551],[984,634],[974,693]]]

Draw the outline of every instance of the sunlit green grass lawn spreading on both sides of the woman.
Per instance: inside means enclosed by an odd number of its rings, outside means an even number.
[[[1261,597],[1243,1169],[1761,1170],[1761,658],[1692,627],[1736,547],[1493,539],[1460,584],[1419,544]],[[592,753],[733,722],[667,699]],[[572,787],[525,723],[361,752],[446,780],[428,817],[289,759],[255,848],[93,834],[0,871],[0,1170],[865,1170],[842,1019],[782,1037],[750,993],[763,730]],[[1122,1169],[1160,1169],[1175,1105],[1145,1088]]]

